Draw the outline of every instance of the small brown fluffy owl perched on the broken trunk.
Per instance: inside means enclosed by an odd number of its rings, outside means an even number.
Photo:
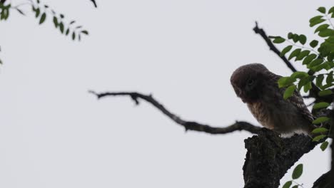
[[[233,72],[231,84],[236,95],[246,103],[263,127],[283,136],[294,133],[310,135],[315,128],[313,115],[306,107],[298,90],[287,100],[285,88],[278,88],[280,75],[270,72],[260,63],[241,66]]]

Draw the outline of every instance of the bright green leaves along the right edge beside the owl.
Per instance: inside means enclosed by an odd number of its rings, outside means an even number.
[[[290,98],[295,90],[302,90],[305,93],[310,92],[313,87],[318,90],[318,98],[329,98],[330,100],[317,101],[313,105],[313,112],[320,115],[313,120],[314,125],[319,125],[311,133],[314,135],[313,142],[322,142],[321,150],[326,150],[329,145],[328,137],[333,135],[333,119],[330,113],[323,113],[326,110],[333,110],[333,86],[334,86],[334,26],[331,21],[334,18],[334,6],[326,11],[325,7],[317,9],[320,15],[314,16],[309,20],[310,27],[315,28],[315,35],[318,40],[308,42],[307,36],[303,34],[288,33],[287,38],[281,36],[269,36],[273,43],[288,43],[280,53],[281,57],[288,55],[288,61],[294,59],[295,62],[302,62],[309,70],[308,73],[295,71],[290,76],[282,77],[278,80],[278,87],[285,88],[284,98]],[[321,23],[321,24],[320,24]],[[300,43],[300,45],[298,44]],[[330,109],[331,108],[331,109]],[[298,171],[298,165],[295,171]],[[301,164],[303,167],[303,164]],[[293,179],[295,179],[293,177]],[[293,180],[286,182],[283,188],[288,188]],[[296,184],[294,187],[303,187],[302,184]]]

